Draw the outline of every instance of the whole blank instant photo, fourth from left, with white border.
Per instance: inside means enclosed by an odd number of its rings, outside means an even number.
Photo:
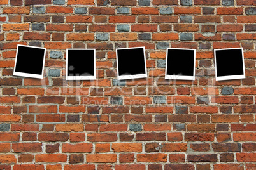
[[[167,48],[166,79],[194,80],[196,49]]]

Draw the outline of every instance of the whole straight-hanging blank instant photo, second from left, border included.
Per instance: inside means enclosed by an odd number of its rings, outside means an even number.
[[[66,80],[96,79],[96,49],[66,49]]]

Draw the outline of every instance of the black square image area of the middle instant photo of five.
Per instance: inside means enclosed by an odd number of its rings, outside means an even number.
[[[119,76],[146,74],[143,48],[118,49],[117,57]]]

